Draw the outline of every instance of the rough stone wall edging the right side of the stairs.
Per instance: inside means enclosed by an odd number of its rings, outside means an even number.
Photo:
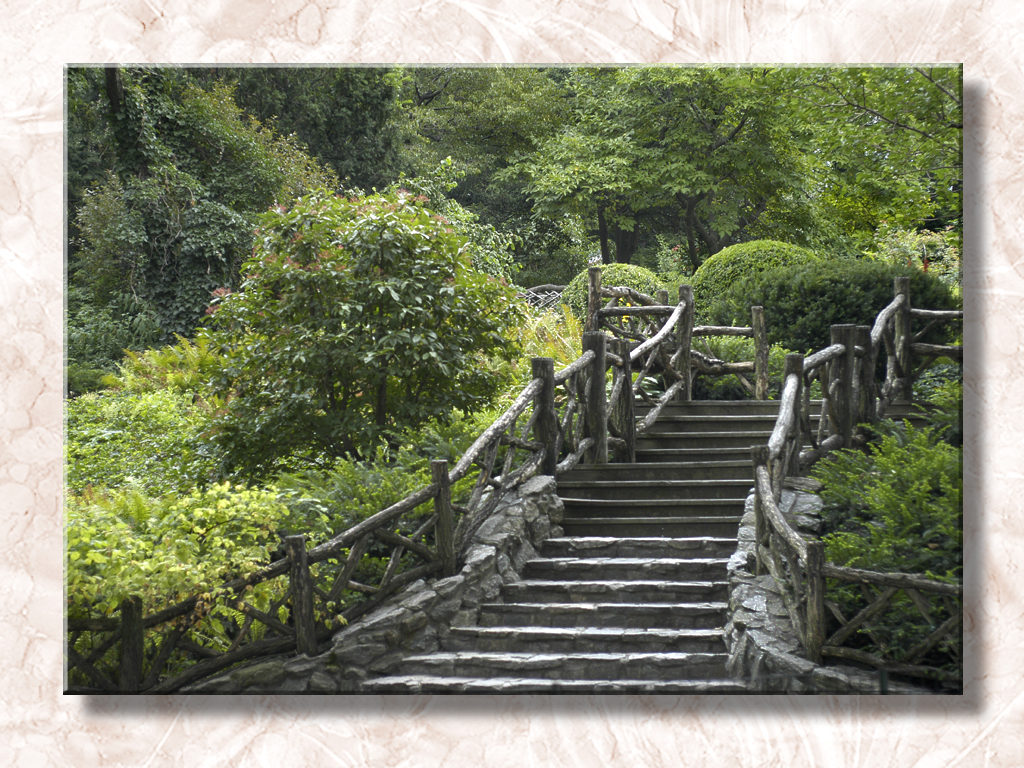
[[[802,535],[821,532],[821,500],[813,494],[783,490],[779,509]],[[729,674],[751,693],[881,693],[877,672],[848,666],[815,665],[799,655],[782,596],[771,575],[755,577],[754,493],[746,498],[739,546],[729,561],[729,621],[725,641]],[[931,694],[904,683],[888,683],[889,693]]]

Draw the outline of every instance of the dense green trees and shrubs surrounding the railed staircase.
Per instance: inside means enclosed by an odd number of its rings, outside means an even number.
[[[458,458],[528,378],[530,355],[577,356],[591,263],[649,294],[692,283],[715,322],[746,325],[763,303],[775,377],[784,349],[822,345],[836,311],[873,316],[897,272],[922,303],[957,305],[961,80],[69,69],[69,611],[128,594],[158,609],[264,562],[285,532],[322,541],[425,484],[429,460]],[[573,309],[515,299],[548,283],[571,284]],[[749,359],[744,345],[701,349]],[[745,390],[728,377],[695,395]],[[856,461],[909,446],[907,493],[954,505],[959,475],[927,453],[937,444],[907,432]],[[912,484],[937,467],[945,479]],[[869,518],[903,530],[873,504],[837,502],[837,556]],[[946,553],[955,526],[935,511],[913,536]],[[907,554],[888,546],[871,541],[892,555],[880,567]],[[958,578],[951,561],[911,564]],[[225,645],[213,615],[208,641]]]

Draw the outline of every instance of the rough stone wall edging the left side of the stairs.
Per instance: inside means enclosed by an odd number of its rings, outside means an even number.
[[[555,480],[537,476],[507,495],[473,536],[454,577],[407,587],[336,634],[315,656],[275,656],[198,683],[197,693],[353,693],[402,658],[437,650],[452,627],[476,624],[480,604],[519,580],[550,537],[561,536]],[[323,647],[323,646],[322,646]]]

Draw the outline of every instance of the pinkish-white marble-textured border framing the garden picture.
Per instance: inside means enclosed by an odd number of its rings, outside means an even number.
[[[1024,765],[1017,0],[0,0],[0,764]],[[61,76],[78,62],[964,61],[963,697],[65,697]]]

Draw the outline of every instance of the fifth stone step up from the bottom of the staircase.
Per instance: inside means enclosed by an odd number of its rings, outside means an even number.
[[[728,582],[525,579],[504,585],[501,596],[506,603],[720,602],[728,599]]]

